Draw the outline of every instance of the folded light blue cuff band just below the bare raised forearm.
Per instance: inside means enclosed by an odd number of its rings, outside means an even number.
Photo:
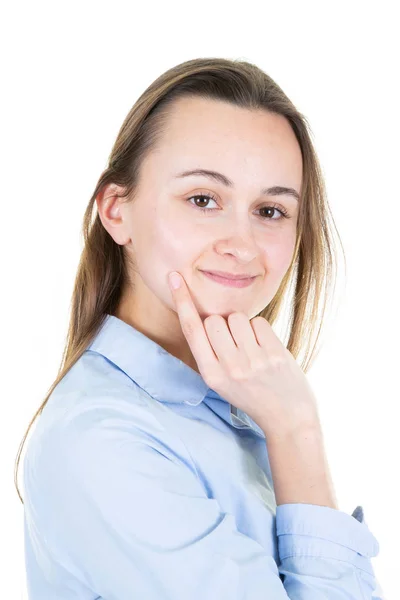
[[[362,506],[349,515],[330,506],[280,504],[276,507],[276,533],[281,560],[288,556],[336,558],[371,572],[365,558],[379,553]]]

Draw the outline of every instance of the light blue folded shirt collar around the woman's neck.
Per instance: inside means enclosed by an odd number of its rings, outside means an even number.
[[[106,315],[86,350],[107,358],[160,402],[197,406],[205,401],[234,427],[251,428],[265,438],[253,419],[209,388],[199,373],[115,315]]]

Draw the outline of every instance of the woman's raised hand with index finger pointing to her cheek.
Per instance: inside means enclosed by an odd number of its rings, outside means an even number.
[[[319,428],[313,391],[293,355],[263,317],[242,312],[202,322],[186,282],[173,289],[182,331],[207,385],[243,410],[266,437]]]

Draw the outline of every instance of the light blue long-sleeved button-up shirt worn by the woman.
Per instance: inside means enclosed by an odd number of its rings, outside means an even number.
[[[383,598],[362,507],[276,506],[258,425],[115,316],[32,430],[30,600]]]

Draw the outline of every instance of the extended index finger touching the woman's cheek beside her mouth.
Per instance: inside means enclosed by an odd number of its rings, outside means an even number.
[[[172,274],[177,275],[180,279],[178,288],[173,288],[172,286],[170,278]],[[185,279],[177,271],[169,273],[168,279],[182,331],[188,341],[199,370],[205,379],[204,373],[212,373],[215,370],[218,359],[210,344],[207,332],[190,295]]]

